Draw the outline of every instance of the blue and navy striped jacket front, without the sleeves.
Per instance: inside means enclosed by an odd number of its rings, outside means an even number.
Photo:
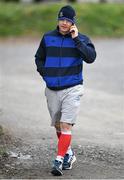
[[[61,90],[82,84],[83,61],[71,35],[58,31],[45,34],[45,64],[42,77],[48,88]]]

